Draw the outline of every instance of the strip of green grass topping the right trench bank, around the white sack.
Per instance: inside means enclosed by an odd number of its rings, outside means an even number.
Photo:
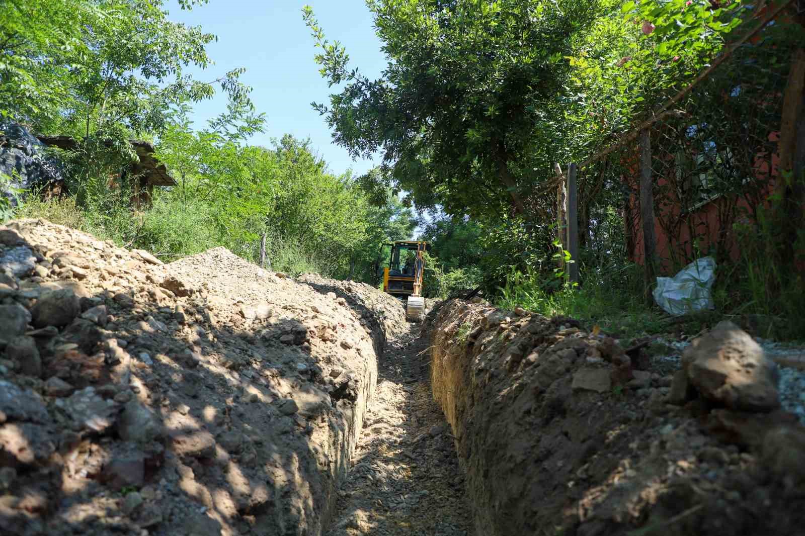
[[[796,264],[782,265],[767,251],[762,230],[753,240],[744,235],[741,258],[716,268],[714,311],[671,317],[643,299],[642,267],[624,266],[606,274],[587,274],[581,287],[557,284],[541,273],[515,272],[499,289],[496,305],[524,307],[547,316],[570,316],[597,324],[615,336],[671,331],[700,332],[720,320],[733,320],[753,335],[777,340],[805,340],[805,283]],[[587,270],[583,270],[584,274]]]

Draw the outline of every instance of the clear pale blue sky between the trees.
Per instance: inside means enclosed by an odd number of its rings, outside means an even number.
[[[208,54],[216,64],[204,72],[193,72],[200,80],[213,80],[236,67],[246,68],[241,80],[254,88],[254,105],[266,113],[267,119],[265,134],[254,136],[251,142],[270,146],[270,138],[283,134],[309,137],[312,150],[318,151],[332,172],[341,174],[351,167],[361,174],[373,163],[353,162],[346,150],[334,145],[324,118],[310,105],[312,101],[327,104],[336,88],[327,87],[313,60],[320,49],[313,47],[302,20],[305,4],[313,7],[327,39],[345,45],[350,67],[360,68],[373,78],[379,76],[386,60],[364,0],[210,0],[192,11],[181,10],[174,0],[169,10],[171,20],[200,25],[218,36],[217,43],[208,45]],[[225,106],[221,95],[196,104],[196,126],[205,126],[206,120],[224,111]]]

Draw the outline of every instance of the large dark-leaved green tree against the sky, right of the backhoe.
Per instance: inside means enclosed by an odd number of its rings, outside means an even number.
[[[389,65],[378,80],[347,67],[312,8],[321,73],[345,83],[315,105],[353,156],[382,151],[382,183],[411,192],[419,207],[448,214],[525,210],[535,177],[526,165],[556,137],[576,35],[598,0],[372,0]],[[544,145],[544,146],[543,146]]]

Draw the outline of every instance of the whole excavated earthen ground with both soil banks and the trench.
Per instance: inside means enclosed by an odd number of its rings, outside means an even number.
[[[0,227],[0,533],[803,534],[801,348],[476,301]]]

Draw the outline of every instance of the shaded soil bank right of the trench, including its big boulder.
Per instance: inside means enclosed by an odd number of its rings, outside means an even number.
[[[805,428],[745,333],[714,330],[667,375],[573,320],[518,313],[453,300],[432,322],[475,534],[805,534]]]

